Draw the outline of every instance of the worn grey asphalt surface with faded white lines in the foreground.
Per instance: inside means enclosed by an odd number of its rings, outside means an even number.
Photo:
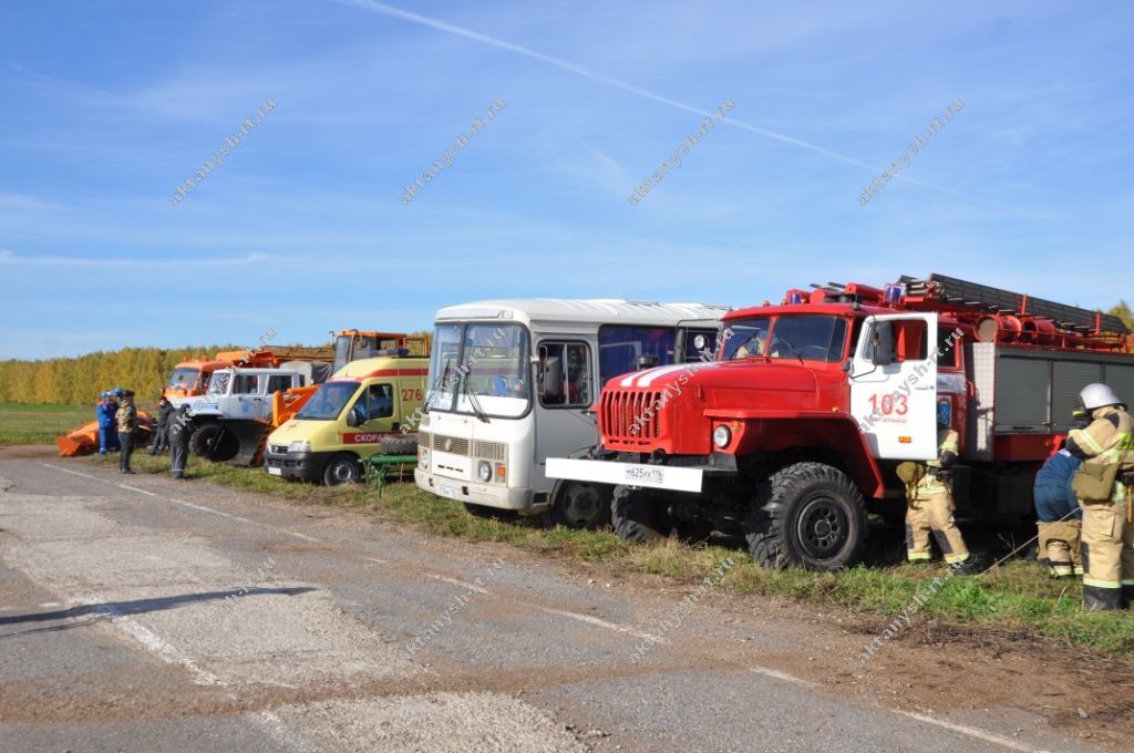
[[[1073,683],[1041,703],[1029,651],[895,641],[863,666],[850,616],[712,591],[634,662],[694,587],[105,465],[0,459],[3,751],[1091,751],[1128,731],[1084,719]]]

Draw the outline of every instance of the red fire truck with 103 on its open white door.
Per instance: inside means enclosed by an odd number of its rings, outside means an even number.
[[[769,567],[853,565],[868,510],[900,515],[895,467],[960,434],[962,518],[1026,516],[1078,391],[1134,399],[1116,316],[955,278],[792,289],[734,311],[711,361],[607,382],[601,445],[548,475],[615,487],[625,540],[743,534]]]

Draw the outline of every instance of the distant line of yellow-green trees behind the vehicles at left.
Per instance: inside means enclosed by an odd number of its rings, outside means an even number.
[[[235,345],[171,350],[124,348],[76,358],[0,361],[0,403],[86,405],[98,403],[99,392],[115,387],[134,390],[145,403],[155,403],[178,362],[239,349],[242,346]]]

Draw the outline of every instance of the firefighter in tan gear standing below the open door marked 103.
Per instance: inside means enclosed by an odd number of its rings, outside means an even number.
[[[975,569],[965,540],[953,519],[953,477],[949,466],[957,459],[958,437],[947,424],[938,423],[938,455],[929,463],[903,463],[898,477],[906,484],[906,559],[928,562],[932,559],[929,534],[932,531],[945,561],[963,575]]]

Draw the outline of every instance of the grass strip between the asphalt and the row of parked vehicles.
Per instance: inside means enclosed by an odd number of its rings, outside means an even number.
[[[110,462],[109,459],[105,462]],[[163,473],[164,457],[138,458],[137,469]],[[688,547],[670,540],[653,545],[625,544],[609,531],[570,531],[547,527],[539,518],[485,519],[474,517],[457,502],[433,497],[413,482],[390,483],[381,498],[364,484],[327,488],[288,483],[259,468],[235,468],[191,460],[191,479],[286,498],[302,505],[333,505],[369,511],[422,531],[469,541],[496,541],[551,557],[592,562],[615,572],[648,573],[696,583],[726,558],[734,567],[720,587],[741,594],[763,594],[812,601],[854,612],[898,619],[914,595],[926,592],[945,566],[860,566],[839,573],[768,570],[747,552],[726,540],[710,545]],[[894,531],[872,531],[883,539],[871,548],[874,561],[900,561],[902,541],[888,541]],[[997,535],[973,540],[995,540]],[[992,545],[992,544],[990,544]],[[1002,545],[1002,544],[1001,544]],[[975,549],[975,547],[974,547]],[[945,585],[917,610],[914,624],[934,620],[964,627],[988,627],[1047,636],[1068,644],[1091,646],[1111,657],[1134,660],[1134,614],[1088,614],[1080,607],[1082,586],[1077,581],[1051,581],[1035,562],[1010,560],[975,578],[942,578]],[[904,623],[903,623],[904,624]],[[864,636],[863,644],[873,635]]]

